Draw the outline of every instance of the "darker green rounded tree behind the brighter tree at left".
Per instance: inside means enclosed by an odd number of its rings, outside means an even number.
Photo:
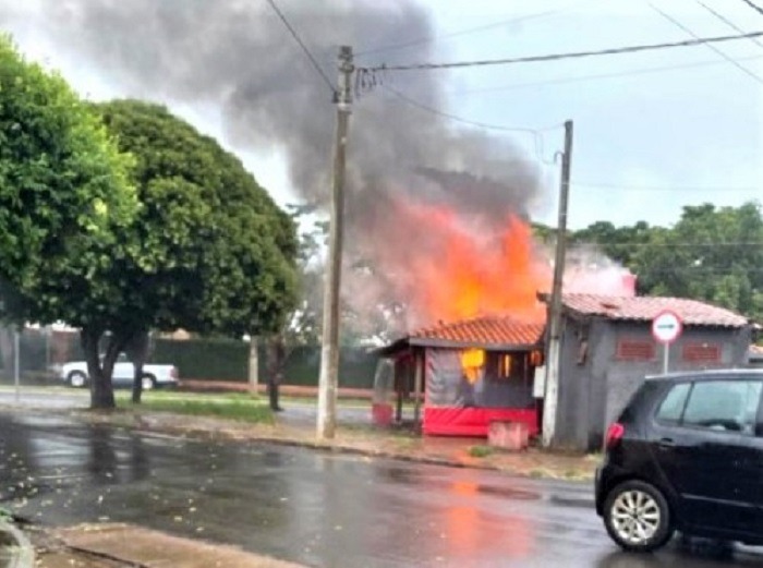
[[[152,328],[268,335],[293,310],[299,243],[291,218],[231,154],[166,108],[98,105],[119,147],[135,159],[142,208],[125,234],[136,254],[113,264],[121,309],[101,327],[107,355],[145,346]],[[145,354],[145,350],[137,350]],[[133,400],[140,401],[142,361]]]

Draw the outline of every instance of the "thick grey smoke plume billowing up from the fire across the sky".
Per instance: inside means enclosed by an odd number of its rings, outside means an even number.
[[[279,5],[332,83],[339,45],[362,52],[435,35],[429,15],[413,0],[282,0]],[[125,95],[219,108],[229,143],[284,152],[295,190],[305,201],[327,203],[335,126],[330,90],[267,2],[0,0],[0,10],[5,19],[0,15],[0,25],[45,27],[63,52],[121,84]],[[370,53],[356,63],[447,56],[431,46]],[[383,82],[422,105],[445,108],[443,73],[407,73]],[[373,263],[375,247],[412,244],[399,235],[408,238],[415,228],[400,231],[392,202],[447,204],[492,230],[510,212],[526,215],[537,186],[536,168],[506,138],[455,129],[384,85],[361,94],[353,105],[349,253]]]

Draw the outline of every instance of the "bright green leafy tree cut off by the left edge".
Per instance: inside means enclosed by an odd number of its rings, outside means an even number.
[[[84,334],[110,312],[102,275],[136,252],[121,238],[141,209],[130,166],[60,76],[0,37],[0,317]]]

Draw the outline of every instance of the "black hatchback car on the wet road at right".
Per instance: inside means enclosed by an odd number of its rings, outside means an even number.
[[[627,551],[763,544],[763,370],[647,377],[606,435],[596,512]]]

